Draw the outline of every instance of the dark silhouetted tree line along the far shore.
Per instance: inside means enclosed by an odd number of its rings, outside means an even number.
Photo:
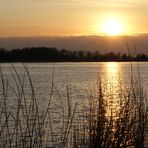
[[[0,62],[103,62],[103,61],[148,61],[146,54],[136,56],[127,53],[68,50],[47,47],[30,47],[6,50],[0,48]]]

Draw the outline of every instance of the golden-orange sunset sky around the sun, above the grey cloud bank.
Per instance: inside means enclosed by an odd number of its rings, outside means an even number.
[[[110,18],[148,33],[148,0],[0,0],[0,37],[101,35]]]

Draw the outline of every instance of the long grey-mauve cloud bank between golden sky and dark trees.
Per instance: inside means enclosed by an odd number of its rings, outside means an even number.
[[[148,54],[148,34],[128,36],[127,40],[132,53],[134,44],[138,53]],[[65,36],[65,37],[9,37],[0,38],[0,47],[6,49],[24,47],[56,47],[70,50],[98,50],[105,52],[126,53],[127,47],[124,37],[104,36]]]

